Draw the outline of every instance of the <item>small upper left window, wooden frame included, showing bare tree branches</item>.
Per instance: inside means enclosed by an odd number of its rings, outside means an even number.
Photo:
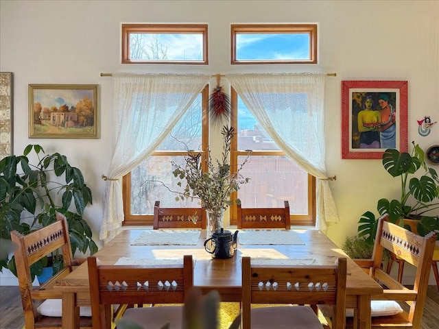
[[[123,24],[122,64],[209,64],[205,24]]]

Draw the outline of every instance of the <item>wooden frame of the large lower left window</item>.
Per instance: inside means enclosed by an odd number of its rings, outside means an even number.
[[[204,86],[202,92],[202,150],[191,151],[200,153],[204,159],[209,145],[209,84]],[[189,151],[155,151],[152,156],[186,156]],[[203,171],[207,171],[206,161],[202,161]],[[124,220],[122,226],[149,226],[153,224],[154,214],[151,215],[132,215],[131,213],[131,173],[127,173],[122,178],[122,199]]]

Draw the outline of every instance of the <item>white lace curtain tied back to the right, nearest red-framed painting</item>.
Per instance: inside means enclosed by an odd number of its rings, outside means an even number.
[[[323,73],[226,75],[287,157],[318,178],[316,228],[323,232],[329,223],[340,221],[324,164],[326,77]]]

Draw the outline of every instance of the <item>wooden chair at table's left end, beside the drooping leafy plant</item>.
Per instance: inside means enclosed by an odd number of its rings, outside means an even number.
[[[73,260],[71,253],[67,220],[61,214],[57,215],[57,219],[55,223],[27,235],[17,231],[11,232],[11,239],[16,245],[14,258],[26,329],[62,328],[62,317],[60,316],[62,315],[62,295],[60,291],[54,290],[53,286],[57,280],[71,273],[75,260]],[[30,266],[59,248],[64,260],[64,268],[45,284],[32,287]],[[38,306],[38,304],[40,305]],[[50,314],[43,315],[46,312]],[[76,316],[80,316],[79,307],[75,313],[77,313]],[[81,328],[92,328],[90,308],[87,310],[81,307],[81,313],[88,315],[88,317],[80,317]]]

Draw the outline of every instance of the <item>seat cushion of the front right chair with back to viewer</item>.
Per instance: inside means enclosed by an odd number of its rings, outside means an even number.
[[[251,309],[252,329],[322,329],[309,306],[272,306]]]

